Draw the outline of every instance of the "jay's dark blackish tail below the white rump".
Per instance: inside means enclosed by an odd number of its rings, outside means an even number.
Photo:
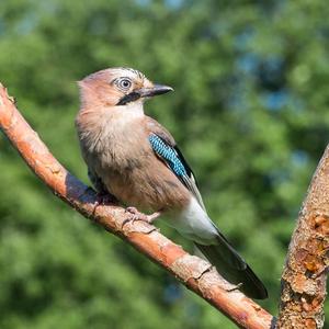
[[[200,245],[194,242],[197,249],[215,265],[220,275],[228,282],[241,284],[239,290],[248,297],[254,299],[268,298],[268,292],[263,283],[258,279],[246,261],[230,246],[227,239],[218,231],[216,245]]]

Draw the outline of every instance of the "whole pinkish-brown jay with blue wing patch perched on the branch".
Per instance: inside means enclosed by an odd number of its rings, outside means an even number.
[[[133,214],[148,212],[192,240],[228,282],[248,297],[264,299],[261,280],[209,218],[194,173],[171,134],[146,115],[144,103],[172,91],[136,69],[115,67],[78,81],[76,128],[88,175],[100,195]]]

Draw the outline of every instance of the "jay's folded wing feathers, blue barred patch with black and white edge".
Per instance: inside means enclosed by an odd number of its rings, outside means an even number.
[[[177,146],[169,145],[157,134],[150,134],[149,143],[155,154],[170,168],[179,180],[193,193],[200,205],[204,207],[201,194],[197,190],[193,172]]]

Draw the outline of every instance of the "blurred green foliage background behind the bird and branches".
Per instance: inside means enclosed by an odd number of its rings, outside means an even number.
[[[321,0],[1,0],[0,80],[86,182],[75,81],[128,66],[172,86],[147,112],[175,136],[275,314],[294,220],[328,141],[328,16]],[[54,197],[3,135],[0,181],[0,328],[235,328]]]

